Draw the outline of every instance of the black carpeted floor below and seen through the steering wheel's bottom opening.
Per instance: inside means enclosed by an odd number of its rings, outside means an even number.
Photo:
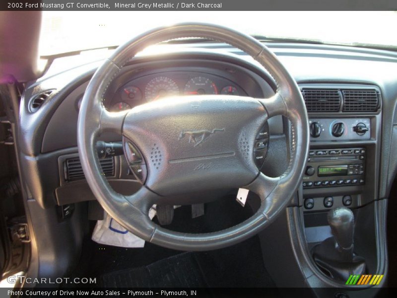
[[[183,232],[211,232],[243,222],[253,211],[233,197],[206,204],[191,218],[189,206],[175,210],[172,224]],[[97,277],[99,287],[274,287],[265,270],[258,236],[206,252],[182,252],[145,243],[144,248],[101,245],[87,237],[72,277]]]

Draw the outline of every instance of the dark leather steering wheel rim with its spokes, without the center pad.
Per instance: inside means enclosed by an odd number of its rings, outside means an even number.
[[[147,46],[184,37],[202,37],[228,43],[246,52],[263,65],[276,82],[277,91],[274,96],[266,99],[250,99],[216,95],[218,96],[217,103],[221,105],[221,102],[230,102],[233,104],[230,106],[235,106],[239,102],[244,102],[244,108],[258,112],[257,119],[252,120],[255,125],[259,123],[258,121],[267,120],[274,115],[283,115],[289,119],[292,129],[291,157],[289,166],[283,175],[270,178],[259,173],[249,183],[235,185],[236,188],[250,189],[260,196],[262,204],[256,214],[241,224],[213,233],[181,233],[154,224],[147,216],[148,210],[153,204],[161,201],[162,196],[158,192],[153,192],[146,185],[132,196],[116,193],[102,175],[95,150],[96,138],[101,133],[111,131],[133,137],[134,135],[130,131],[138,130],[135,128],[133,118],[139,118],[142,114],[148,115],[144,109],[143,111],[138,110],[138,112],[110,113],[104,108],[103,96],[119,71],[136,53]],[[181,111],[185,112],[188,109],[186,105],[190,101],[197,103],[199,99],[200,97],[188,98],[185,102],[177,103],[177,105],[180,105]],[[209,102],[208,98],[203,98],[202,102],[205,106]],[[165,102],[165,105],[167,104]],[[216,106],[216,103],[214,104]],[[153,110],[150,112],[152,113]],[[247,239],[265,228],[282,212],[301,183],[309,149],[308,131],[308,116],[299,87],[265,45],[248,35],[225,27],[183,23],[157,28],[133,38],[125,45],[120,46],[97,69],[87,86],[81,103],[77,141],[87,182],[99,203],[112,218],[145,241],[178,250],[200,251],[229,246]],[[255,134],[249,134],[247,138],[255,139]],[[239,152],[236,153],[237,155]],[[155,175],[153,174],[153,176]]]

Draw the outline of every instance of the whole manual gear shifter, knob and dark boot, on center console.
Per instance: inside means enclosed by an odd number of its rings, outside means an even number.
[[[353,212],[345,207],[332,209],[328,223],[333,236],[313,248],[316,264],[336,280],[346,281],[351,274],[364,274],[364,258],[353,253]]]

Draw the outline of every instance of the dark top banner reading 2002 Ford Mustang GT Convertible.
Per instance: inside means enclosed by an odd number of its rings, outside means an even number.
[[[397,10],[397,0],[1,0],[0,10]]]

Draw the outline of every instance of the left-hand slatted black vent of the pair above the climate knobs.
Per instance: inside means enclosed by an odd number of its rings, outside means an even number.
[[[337,89],[302,88],[308,112],[337,112],[340,107],[340,92]]]

